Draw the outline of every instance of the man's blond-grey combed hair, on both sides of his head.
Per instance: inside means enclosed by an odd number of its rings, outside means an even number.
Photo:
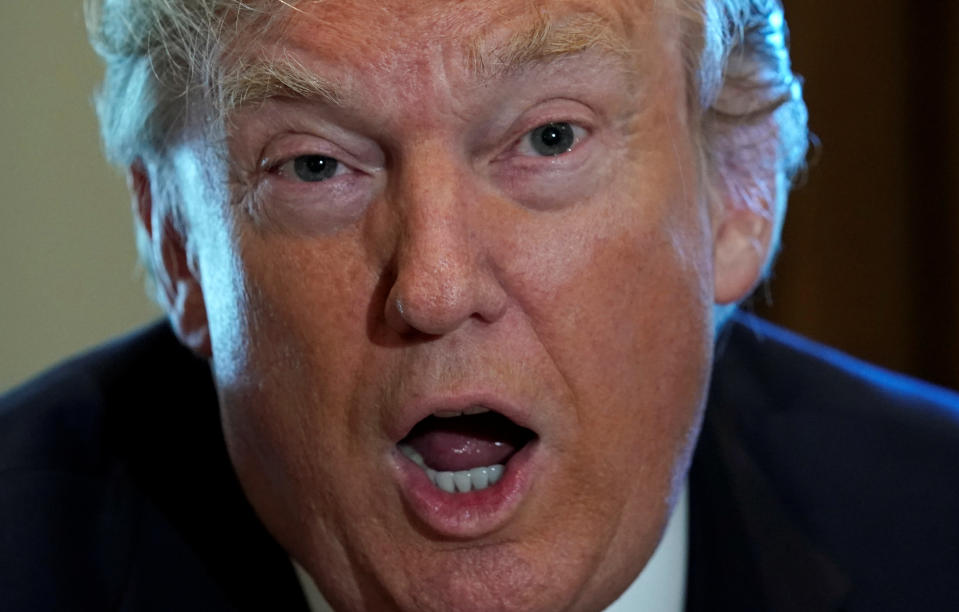
[[[803,169],[809,142],[780,0],[657,2],[677,11],[683,22],[701,166],[738,190],[747,204],[773,203],[775,244],[785,195]],[[106,64],[96,108],[107,158],[123,168],[137,160],[161,167],[169,145],[196,113],[203,113],[201,123],[211,129],[222,128],[229,103],[220,86],[228,76],[223,67],[230,63],[230,50],[239,41],[249,48],[296,3],[86,0],[90,40]],[[767,185],[760,176],[777,176],[779,184]],[[145,230],[137,231],[152,277]]]

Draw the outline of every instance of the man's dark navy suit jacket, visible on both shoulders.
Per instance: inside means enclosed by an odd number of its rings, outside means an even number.
[[[959,398],[744,316],[718,352],[687,609],[959,609]],[[0,399],[0,610],[306,610],[166,325]]]

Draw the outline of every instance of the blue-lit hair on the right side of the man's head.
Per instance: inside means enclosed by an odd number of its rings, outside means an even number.
[[[727,193],[738,194],[735,202],[770,217],[765,275],[779,247],[788,192],[805,171],[810,143],[781,0],[675,4],[685,22],[684,60],[702,167],[716,179],[706,186],[716,199],[717,183],[723,184]]]

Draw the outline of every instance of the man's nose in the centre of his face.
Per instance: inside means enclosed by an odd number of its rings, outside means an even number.
[[[466,321],[492,323],[506,310],[496,278],[489,211],[470,180],[438,156],[401,172],[396,198],[399,238],[386,322],[400,334],[448,334]]]

